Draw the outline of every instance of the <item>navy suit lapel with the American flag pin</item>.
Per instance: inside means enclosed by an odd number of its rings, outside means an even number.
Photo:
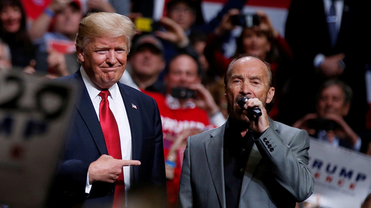
[[[119,90],[124,100],[124,105],[126,113],[128,115],[130,131],[131,131],[131,145],[132,145],[132,160],[140,160],[141,150],[142,150],[142,120],[140,115],[140,109],[137,109],[139,106],[137,101],[124,89],[124,85],[117,83]],[[135,107],[134,107],[135,106]],[[133,177],[138,175],[139,167],[133,167]]]

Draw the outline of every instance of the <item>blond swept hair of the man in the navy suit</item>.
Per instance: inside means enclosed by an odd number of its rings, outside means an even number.
[[[85,48],[89,41],[96,37],[126,37],[126,46],[129,53],[131,40],[135,35],[135,25],[121,14],[96,12],[90,13],[79,23],[75,45]]]

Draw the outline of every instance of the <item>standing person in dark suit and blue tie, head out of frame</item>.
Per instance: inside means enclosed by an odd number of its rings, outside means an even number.
[[[288,107],[287,124],[314,112],[315,92],[324,80],[338,78],[354,91],[352,107],[345,119],[355,130],[365,128],[365,63],[371,58],[370,50],[365,48],[371,44],[370,8],[369,0],[292,1],[285,28],[295,57],[288,97],[291,99],[284,104]],[[297,100],[301,107],[292,114],[290,104]]]

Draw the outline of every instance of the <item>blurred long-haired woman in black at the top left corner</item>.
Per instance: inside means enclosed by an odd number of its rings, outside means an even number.
[[[20,0],[0,0],[0,39],[10,47],[13,67],[29,66],[35,51],[26,30],[26,14]]]

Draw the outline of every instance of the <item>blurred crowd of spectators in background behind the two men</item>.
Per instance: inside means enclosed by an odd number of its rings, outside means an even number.
[[[185,140],[226,121],[224,75],[239,54],[252,54],[272,65],[276,94],[269,115],[273,120],[305,129],[335,146],[371,155],[371,129],[366,125],[371,122],[366,117],[365,72],[371,66],[367,0],[336,3],[344,12],[342,21],[335,21],[335,35],[328,29],[331,21],[325,21],[331,19],[331,0],[309,5],[292,0],[285,37],[264,11],[256,11],[256,25],[236,22],[246,0],[226,1],[208,22],[202,16],[201,0],[165,1],[164,16],[154,22],[153,1],[32,2],[0,0],[2,70],[13,68],[46,78],[75,73],[79,68],[75,38],[87,12],[116,12],[136,24],[137,35],[120,81],[157,101],[168,200],[173,206]],[[236,38],[236,52],[228,57],[223,43],[237,27],[242,30]],[[177,94],[184,88],[189,89],[189,97]]]

